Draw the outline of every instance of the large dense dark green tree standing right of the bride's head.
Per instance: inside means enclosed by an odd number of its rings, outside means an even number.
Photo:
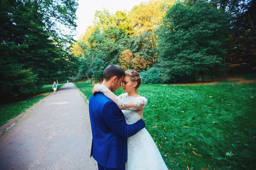
[[[177,81],[178,77],[194,72],[203,79],[205,72],[218,70],[226,54],[223,44],[228,29],[228,15],[208,3],[175,4],[158,30],[163,80]]]

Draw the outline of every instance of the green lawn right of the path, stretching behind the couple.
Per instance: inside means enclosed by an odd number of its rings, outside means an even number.
[[[77,87],[90,98],[91,84]],[[169,168],[256,167],[256,83],[141,85],[138,92],[148,99],[145,128]]]

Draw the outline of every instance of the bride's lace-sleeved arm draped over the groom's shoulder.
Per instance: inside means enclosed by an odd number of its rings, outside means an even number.
[[[138,97],[130,101],[124,101],[119,96],[113,94],[113,92],[111,92],[105,85],[95,85],[93,87],[93,94],[95,92],[102,92],[105,96],[113,100],[121,110],[141,110],[145,108],[148,102],[145,97]]]

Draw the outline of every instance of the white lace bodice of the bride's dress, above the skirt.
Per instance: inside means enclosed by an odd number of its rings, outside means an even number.
[[[134,100],[136,99],[136,100]],[[145,108],[146,104],[147,104],[147,99],[145,97],[134,97],[134,96],[128,96],[127,93],[125,94],[122,94],[122,100],[124,102],[128,102],[128,101],[137,101],[137,105],[140,105],[140,104],[144,104],[143,102],[145,102],[143,108]],[[122,113],[125,115],[125,121],[127,124],[131,125],[131,124],[134,124],[136,123],[138,120],[141,119],[142,115],[140,116],[137,112],[136,112],[136,108],[127,108],[125,110],[122,110]]]

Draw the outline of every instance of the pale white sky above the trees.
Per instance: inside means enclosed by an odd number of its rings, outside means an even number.
[[[111,14],[116,11],[130,11],[135,5],[149,0],[78,0],[79,7],[76,11],[77,34],[74,37],[78,40],[81,34],[84,34],[87,26],[93,25],[94,14],[96,10],[102,11],[105,7]]]

